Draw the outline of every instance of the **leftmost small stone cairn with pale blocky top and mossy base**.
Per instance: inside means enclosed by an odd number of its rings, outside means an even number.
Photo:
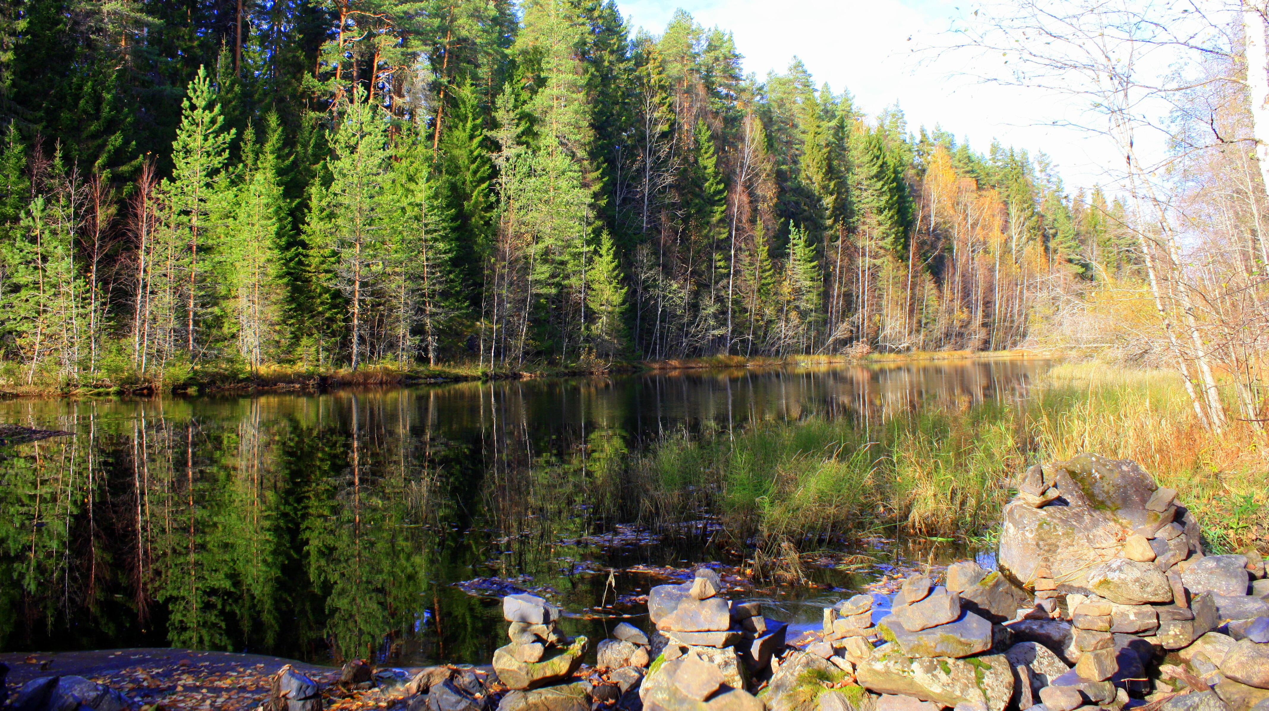
[[[572,679],[586,653],[586,637],[570,640],[556,627],[560,608],[533,594],[503,598],[511,643],[494,651],[494,672],[510,691],[499,711],[590,708],[590,683]]]

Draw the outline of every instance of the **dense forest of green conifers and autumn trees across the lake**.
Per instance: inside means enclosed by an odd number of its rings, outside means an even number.
[[[0,3],[11,376],[1004,349],[1133,269],[1042,153],[612,0]]]

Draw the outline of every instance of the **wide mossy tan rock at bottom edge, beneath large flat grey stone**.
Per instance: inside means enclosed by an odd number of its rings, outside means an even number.
[[[877,693],[915,696],[943,706],[983,703],[1004,711],[1014,695],[1014,673],[1003,654],[972,659],[911,658],[895,643],[877,648],[855,669],[859,686]]]

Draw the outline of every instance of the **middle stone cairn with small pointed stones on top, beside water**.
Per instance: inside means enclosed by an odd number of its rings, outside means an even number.
[[[759,605],[731,603],[721,592],[718,573],[708,568],[689,583],[652,588],[656,660],[640,688],[645,711],[764,708],[746,682],[784,648],[788,627],[763,617]]]

